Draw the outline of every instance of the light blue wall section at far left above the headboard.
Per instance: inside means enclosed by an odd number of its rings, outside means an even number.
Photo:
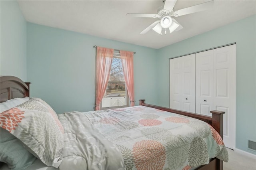
[[[0,75],[13,75],[26,81],[26,20],[16,1],[1,0],[0,5]]]

